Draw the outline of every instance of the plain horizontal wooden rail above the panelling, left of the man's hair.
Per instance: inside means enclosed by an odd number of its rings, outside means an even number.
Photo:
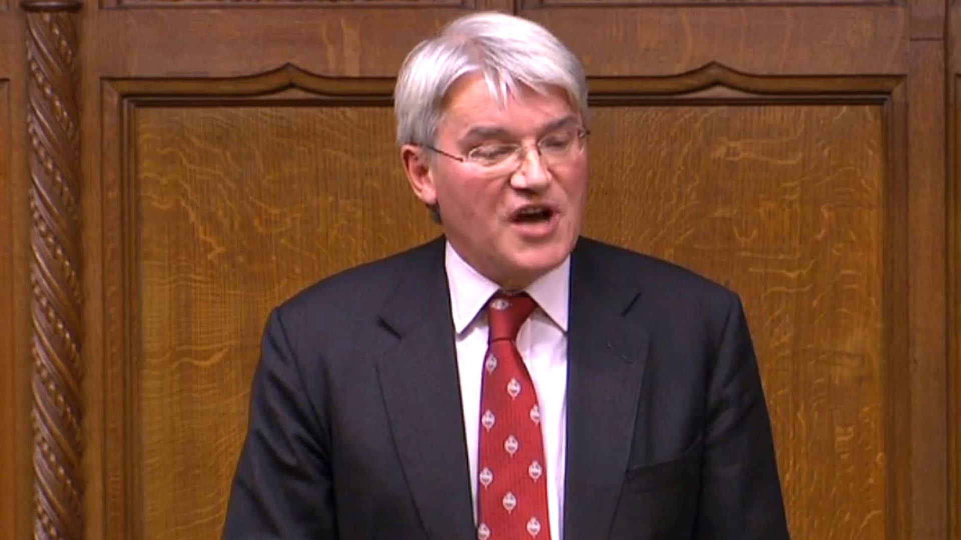
[[[508,1],[479,4],[509,12]],[[102,52],[98,74],[105,78],[241,77],[291,63],[329,77],[394,77],[414,45],[469,12],[461,8],[233,6],[238,4],[227,3],[217,10],[99,12],[87,27],[90,50]],[[175,35],[171,28],[177,29]],[[211,37],[211,29],[217,29],[216,37]]]

